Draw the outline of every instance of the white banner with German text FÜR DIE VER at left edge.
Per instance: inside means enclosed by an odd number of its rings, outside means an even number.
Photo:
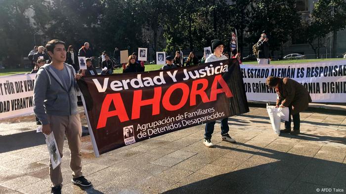
[[[35,76],[0,76],[0,120],[34,113]]]

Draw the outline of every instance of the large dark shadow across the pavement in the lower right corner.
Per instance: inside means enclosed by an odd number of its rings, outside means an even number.
[[[275,151],[237,143],[231,148],[240,154],[255,154],[229,173],[220,174],[183,186],[166,194],[279,194],[316,193],[317,188],[346,189],[346,164]],[[243,149],[239,149],[243,148]],[[245,149],[245,150],[244,150]],[[228,156],[229,158],[229,156]],[[237,160],[237,158],[234,158]],[[340,159],[344,160],[344,159]],[[189,177],[187,177],[189,179]]]

